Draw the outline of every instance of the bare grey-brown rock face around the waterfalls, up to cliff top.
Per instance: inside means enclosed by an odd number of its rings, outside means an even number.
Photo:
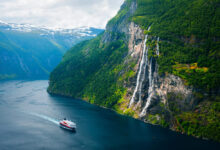
[[[172,126],[172,113],[191,110],[194,106],[193,88],[184,84],[177,76],[158,74],[157,58],[148,57],[149,39],[155,45],[155,54],[159,57],[159,37],[144,35],[143,29],[129,18],[137,9],[136,1],[126,1],[121,10],[127,11],[126,15],[117,16],[111,20],[102,37],[103,43],[124,40],[128,45],[128,54],[124,59],[125,66],[135,63],[133,68],[125,68],[135,72],[135,76],[124,83],[127,93],[119,108],[123,112],[132,111],[133,117],[146,122],[160,124],[161,119],[170,122]],[[150,27],[149,27],[150,30]],[[123,73],[122,73],[123,74]],[[132,101],[132,103],[131,103]],[[151,118],[149,118],[151,116]]]

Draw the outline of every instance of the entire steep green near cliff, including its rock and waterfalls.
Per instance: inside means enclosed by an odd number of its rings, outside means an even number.
[[[65,54],[48,91],[220,141],[217,6],[125,1],[103,34]]]

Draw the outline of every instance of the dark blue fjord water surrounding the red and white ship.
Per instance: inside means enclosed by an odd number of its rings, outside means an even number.
[[[181,135],[81,100],[51,96],[47,80],[0,82],[0,149],[219,149],[215,142]],[[63,117],[76,132],[59,127]]]

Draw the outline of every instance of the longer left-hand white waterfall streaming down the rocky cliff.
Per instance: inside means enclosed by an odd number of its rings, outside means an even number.
[[[150,27],[148,28],[148,31],[149,30],[150,30]],[[146,58],[147,58],[147,52],[146,52],[146,42],[147,42],[147,39],[148,39],[148,34],[145,36],[145,40],[144,40],[143,54],[142,54],[142,58],[141,58],[141,63],[139,65],[139,72],[138,72],[138,75],[137,75],[136,87],[134,89],[134,93],[132,95],[132,98],[130,100],[130,103],[129,103],[128,107],[131,107],[131,105],[134,103],[137,91],[139,92],[139,100],[141,99],[141,89],[142,89],[142,83],[144,81],[145,68],[146,68],[146,64],[145,63],[147,62],[147,60],[146,60]]]

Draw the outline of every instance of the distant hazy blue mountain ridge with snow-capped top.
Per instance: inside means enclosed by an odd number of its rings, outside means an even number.
[[[0,22],[0,80],[47,79],[70,47],[102,31],[88,27],[51,30]]]

